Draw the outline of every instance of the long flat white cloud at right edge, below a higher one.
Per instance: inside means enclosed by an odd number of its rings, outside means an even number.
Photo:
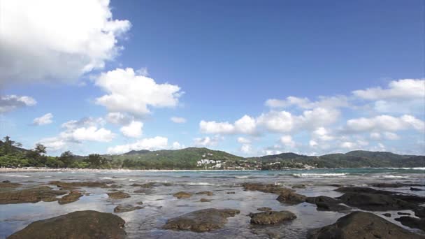
[[[390,115],[378,115],[376,117],[350,119],[347,121],[349,131],[399,131],[416,129],[423,132],[425,123],[412,115],[393,117]]]

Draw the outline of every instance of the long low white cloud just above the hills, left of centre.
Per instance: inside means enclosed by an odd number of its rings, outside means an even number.
[[[108,154],[123,154],[131,150],[161,150],[167,147],[168,138],[156,136],[154,138],[143,138],[128,145],[108,147]]]

